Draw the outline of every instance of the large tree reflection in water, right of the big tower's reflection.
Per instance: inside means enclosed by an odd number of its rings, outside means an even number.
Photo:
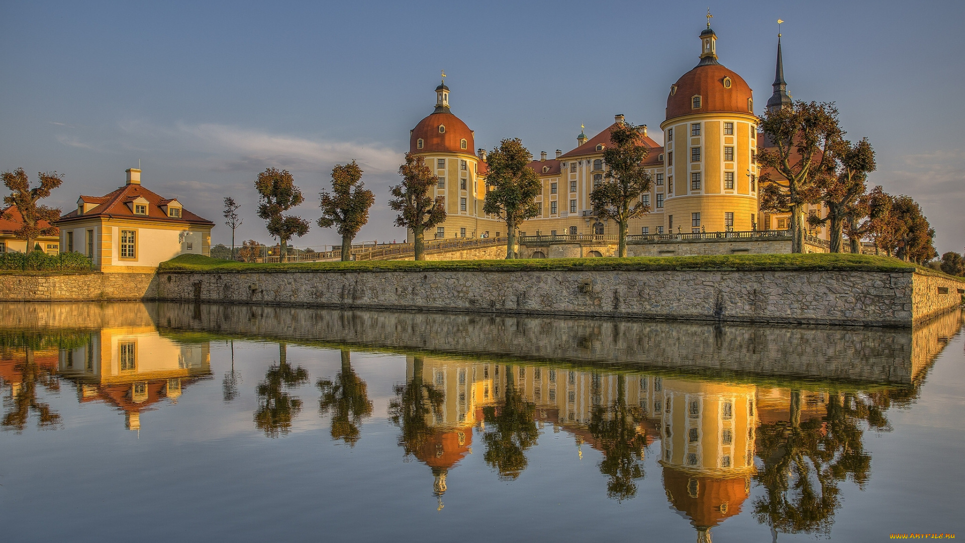
[[[754,502],[754,516],[778,532],[828,535],[841,506],[839,481],[859,488],[869,480],[871,457],[864,450],[862,420],[887,428],[879,408],[853,394],[832,393],[826,414],[801,421],[801,392],[791,390],[790,420],[758,428],[758,456],[764,469],[756,479],[766,495]]]

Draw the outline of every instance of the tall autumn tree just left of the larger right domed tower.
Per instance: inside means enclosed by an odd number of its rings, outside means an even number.
[[[643,127],[620,123],[610,131],[613,144],[603,151],[607,171],[603,183],[593,188],[590,202],[601,218],[612,218],[620,227],[617,256],[626,256],[626,231],[631,218],[650,211],[641,194],[650,189],[650,176],[643,165],[649,148],[643,139]]]

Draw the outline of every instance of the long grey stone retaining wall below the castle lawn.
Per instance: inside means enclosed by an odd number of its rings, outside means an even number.
[[[896,327],[960,300],[913,286],[940,277],[900,271],[162,272],[159,279],[159,300]],[[913,310],[915,293],[922,310]]]

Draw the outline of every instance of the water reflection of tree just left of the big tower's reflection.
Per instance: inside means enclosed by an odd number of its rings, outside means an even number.
[[[596,406],[590,418],[590,434],[603,452],[601,473],[610,476],[607,496],[617,500],[637,494],[635,479],[644,476],[646,434],[639,431],[643,410],[626,405],[626,377],[617,376],[617,399],[608,406]]]

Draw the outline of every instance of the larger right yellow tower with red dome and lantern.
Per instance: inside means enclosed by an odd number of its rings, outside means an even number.
[[[664,130],[670,233],[757,226],[758,118],[744,78],[717,60],[717,35],[701,33],[701,61],[671,85]]]

